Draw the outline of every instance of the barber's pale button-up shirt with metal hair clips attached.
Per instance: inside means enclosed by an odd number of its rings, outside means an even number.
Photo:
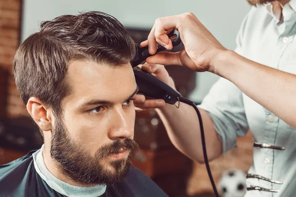
[[[260,64],[296,74],[296,0],[283,7],[282,16],[279,20],[273,14],[271,4],[253,7],[241,25],[235,51]],[[277,83],[276,78],[273,83]],[[274,84],[270,84],[270,88]],[[199,107],[210,114],[222,141],[223,152],[235,147],[236,137],[245,135],[248,129],[252,131],[254,142],[286,148],[254,148],[254,161],[249,173],[283,184],[247,179],[247,186],[280,191],[247,191],[245,197],[296,196],[295,129],[223,78],[214,84]]]

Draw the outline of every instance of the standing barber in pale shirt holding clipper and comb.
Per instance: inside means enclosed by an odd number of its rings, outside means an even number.
[[[255,148],[249,173],[259,178],[247,179],[252,191],[246,197],[295,197],[296,0],[248,1],[254,6],[242,23],[235,51],[225,49],[192,13],[168,16],[155,21],[142,46],[148,45],[150,54],[157,42],[171,49],[166,31],[173,28],[180,32],[184,48],[149,57],[151,65],[142,69],[173,88],[162,65],[221,76],[198,106],[209,160],[235,147],[236,137],[250,129]],[[173,144],[192,160],[204,162],[199,121],[192,107],[180,103],[176,108],[163,100],[145,100],[143,95],[136,100],[135,106],[142,109],[159,108],[156,111]]]

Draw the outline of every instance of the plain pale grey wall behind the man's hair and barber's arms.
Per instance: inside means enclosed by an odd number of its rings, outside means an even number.
[[[38,31],[40,21],[78,11],[103,11],[126,27],[146,29],[158,17],[192,12],[223,46],[233,50],[236,33],[249,9],[246,0],[24,0],[22,40]],[[190,99],[201,101],[217,79],[208,72],[197,73]]]

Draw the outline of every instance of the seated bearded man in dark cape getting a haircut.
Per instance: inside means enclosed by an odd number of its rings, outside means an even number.
[[[102,12],[42,22],[18,48],[21,99],[41,149],[0,166],[0,197],[165,197],[131,164],[135,44]]]

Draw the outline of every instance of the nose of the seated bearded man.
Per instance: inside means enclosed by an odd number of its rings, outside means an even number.
[[[130,138],[134,134],[134,128],[130,124],[125,111],[119,107],[112,114],[111,129],[109,131],[110,139]]]

